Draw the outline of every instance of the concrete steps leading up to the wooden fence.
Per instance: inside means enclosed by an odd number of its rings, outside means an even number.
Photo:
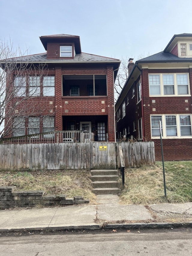
[[[118,178],[117,170],[91,170],[93,193],[97,195],[120,193]]]

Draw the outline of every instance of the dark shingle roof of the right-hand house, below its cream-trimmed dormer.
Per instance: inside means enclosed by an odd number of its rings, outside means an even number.
[[[149,57],[140,59],[137,61],[137,63],[143,63],[143,62],[191,62],[192,58],[179,58],[176,55],[172,53],[156,53]]]

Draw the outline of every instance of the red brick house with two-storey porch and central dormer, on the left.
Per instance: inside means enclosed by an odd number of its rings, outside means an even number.
[[[8,137],[83,130],[93,132],[95,140],[115,141],[114,80],[120,61],[82,53],[79,36],[47,35],[40,40],[46,53],[14,59],[34,67],[44,65],[46,70],[42,74],[46,75],[38,77],[37,72],[41,71],[36,71],[33,77],[31,72],[23,82],[16,97],[35,93],[26,99],[30,102],[27,117],[25,113],[19,117],[19,123],[16,122]],[[13,72],[13,80],[16,86],[22,77]],[[39,111],[35,113],[36,109]]]

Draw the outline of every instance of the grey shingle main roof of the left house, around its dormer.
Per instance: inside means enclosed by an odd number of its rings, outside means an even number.
[[[11,60],[11,59],[10,59]],[[39,53],[34,55],[27,55],[16,57],[13,59],[17,62],[43,62],[43,63],[51,63],[51,62],[58,62],[58,63],[75,63],[75,62],[119,62],[119,59],[108,58],[104,56],[98,56],[89,53],[79,53],[76,54],[74,59],[47,59],[47,53]]]

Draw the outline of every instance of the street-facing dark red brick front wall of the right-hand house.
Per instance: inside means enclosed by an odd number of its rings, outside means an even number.
[[[151,73],[185,73],[189,72],[190,90],[192,89],[192,69],[149,70]],[[191,114],[192,100],[190,96],[183,97],[149,97],[148,69],[142,70],[144,130],[145,138],[151,140],[150,114]],[[192,91],[191,91],[192,92]],[[155,103],[152,103],[155,100]],[[185,102],[188,100],[188,102]],[[155,108],[155,111],[153,109]],[[186,110],[188,108],[188,110]],[[153,139],[152,139],[153,140]],[[155,159],[161,160],[161,142],[155,139]],[[164,160],[191,160],[191,139],[163,139]]]

